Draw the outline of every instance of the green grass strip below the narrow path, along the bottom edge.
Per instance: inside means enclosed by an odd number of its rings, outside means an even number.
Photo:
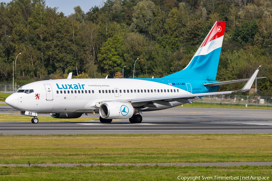
[[[90,166],[90,167],[0,167],[0,180],[178,180],[178,176],[272,177],[271,166],[176,167],[176,166]],[[240,177],[239,177],[240,178]],[[193,179],[189,179],[193,180]],[[204,180],[204,179],[203,179]],[[225,179],[223,179],[225,180]],[[246,179],[241,179],[246,180]],[[256,180],[256,179],[255,179]]]

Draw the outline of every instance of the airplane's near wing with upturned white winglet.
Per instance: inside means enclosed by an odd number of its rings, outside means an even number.
[[[178,101],[181,103],[191,103],[188,99],[196,99],[196,98],[199,98],[202,96],[209,96],[209,95],[216,95],[216,94],[231,94],[233,92],[245,92],[251,88],[258,71],[259,70],[256,70],[254,72],[254,74],[251,76],[251,78],[249,78],[248,82],[240,90],[223,91],[223,92],[208,92],[208,93],[199,93],[199,94],[182,94],[182,95],[176,95],[176,96],[139,98],[139,99],[132,99],[131,103],[142,103],[142,102],[148,103],[148,102],[152,101],[154,103],[171,106],[172,104],[169,103],[170,101]]]

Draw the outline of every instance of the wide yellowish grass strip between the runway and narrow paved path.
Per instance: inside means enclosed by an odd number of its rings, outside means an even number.
[[[0,164],[272,161],[272,134],[0,135]]]

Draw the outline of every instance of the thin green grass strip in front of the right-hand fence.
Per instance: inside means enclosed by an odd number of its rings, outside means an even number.
[[[238,104],[215,104],[215,103],[201,103],[201,102],[193,102],[192,104],[183,104],[178,107],[186,107],[186,108],[228,108],[228,109],[261,109],[261,110],[272,110],[272,106],[251,106],[248,105],[238,105]]]

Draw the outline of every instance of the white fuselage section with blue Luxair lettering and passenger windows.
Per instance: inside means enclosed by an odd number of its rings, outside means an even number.
[[[48,87],[48,84],[50,84],[50,87]],[[114,100],[129,102],[138,98],[191,94],[186,90],[167,84],[118,78],[38,81],[24,85],[18,90],[34,90],[34,92],[12,94],[9,97],[9,105],[20,111],[35,113],[98,113],[99,106],[103,102]],[[153,111],[167,109],[183,103],[171,102],[173,106],[155,104],[157,108],[144,108],[145,104],[132,103],[132,106],[138,107],[140,111]]]

